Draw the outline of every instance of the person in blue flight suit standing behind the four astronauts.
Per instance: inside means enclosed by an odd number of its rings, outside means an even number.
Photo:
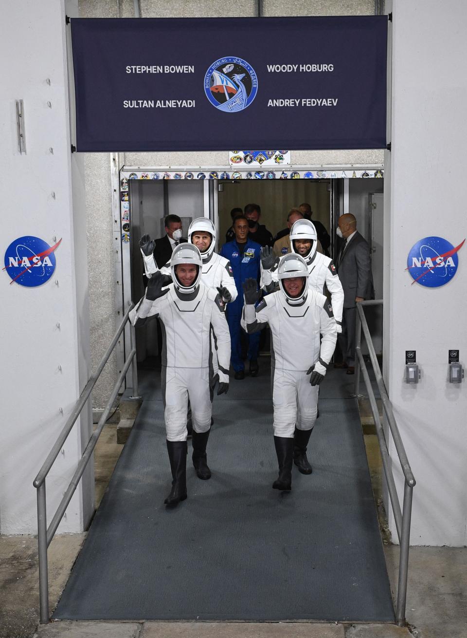
[[[243,281],[250,277],[259,281],[261,274],[261,245],[248,239],[248,219],[244,215],[237,215],[233,220],[234,241],[229,241],[220,249],[220,255],[229,260],[235,285],[237,298],[226,308],[227,323],[231,338],[231,363],[234,378],[245,378],[245,366],[241,357],[241,312],[243,310]],[[258,350],[259,332],[246,336],[248,339],[247,357],[250,360],[250,376],[256,376],[259,371]]]

